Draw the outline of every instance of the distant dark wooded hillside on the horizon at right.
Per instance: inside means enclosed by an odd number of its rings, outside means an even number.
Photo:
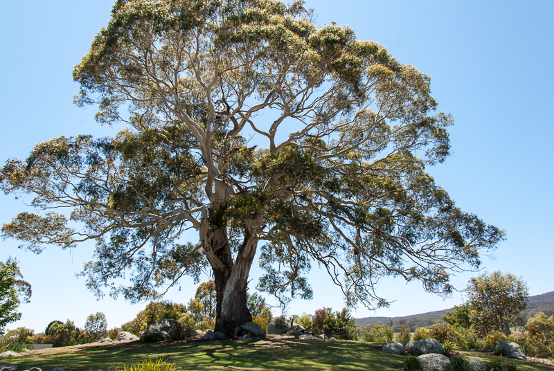
[[[446,311],[453,311],[454,308],[444,309],[441,311],[429,311],[427,313],[412,314],[404,317],[364,317],[356,318],[356,325],[379,324],[389,325],[395,332],[400,332],[400,328],[404,323],[409,323],[411,331],[415,331],[418,327],[427,327],[443,323],[443,316]],[[528,319],[535,314],[543,311],[547,316],[554,315],[554,291],[542,293],[541,295],[529,296],[527,309],[524,310],[524,316]]]

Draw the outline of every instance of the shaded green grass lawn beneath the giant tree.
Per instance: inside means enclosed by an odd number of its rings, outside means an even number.
[[[51,371],[114,371],[123,363],[141,363],[144,357],[176,363],[183,370],[396,370],[406,356],[384,354],[375,343],[320,342],[289,339],[259,341],[211,341],[196,343],[116,343],[98,346],[60,347],[29,356],[2,359],[19,365]],[[488,354],[465,352],[487,362]],[[554,366],[515,361],[518,370],[554,371]]]

